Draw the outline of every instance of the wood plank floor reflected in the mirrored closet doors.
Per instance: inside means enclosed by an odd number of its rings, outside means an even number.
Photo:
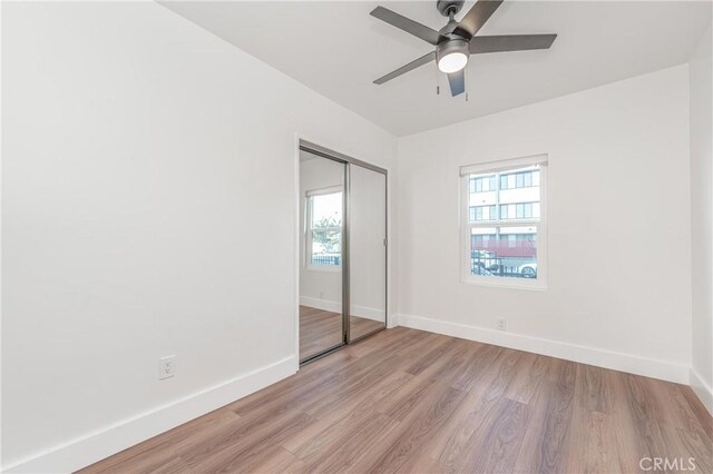
[[[383,324],[351,317],[352,337],[369,334]],[[342,315],[310,306],[300,306],[300,359],[307,358],[342,342]]]

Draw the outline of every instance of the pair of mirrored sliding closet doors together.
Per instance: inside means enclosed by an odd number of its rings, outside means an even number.
[[[300,199],[306,363],[387,327],[387,171],[301,142]]]

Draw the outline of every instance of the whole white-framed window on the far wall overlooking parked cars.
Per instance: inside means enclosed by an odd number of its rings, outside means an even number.
[[[461,168],[465,282],[546,286],[546,156]]]

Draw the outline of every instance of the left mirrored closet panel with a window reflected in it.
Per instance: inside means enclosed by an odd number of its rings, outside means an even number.
[[[344,343],[344,164],[300,151],[300,361]]]

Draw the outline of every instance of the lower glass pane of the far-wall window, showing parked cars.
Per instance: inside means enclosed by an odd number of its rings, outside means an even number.
[[[537,227],[471,228],[470,273],[537,278]]]

